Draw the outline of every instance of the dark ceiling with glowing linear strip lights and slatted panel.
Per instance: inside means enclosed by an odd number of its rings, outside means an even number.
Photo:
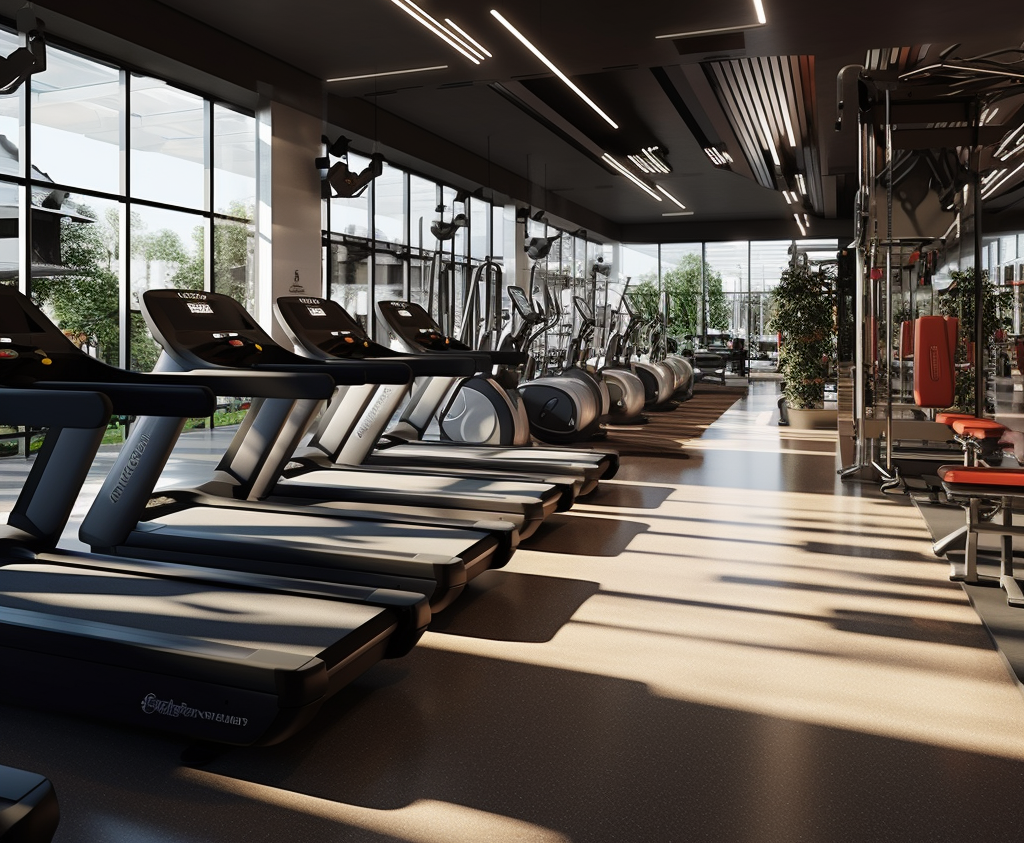
[[[852,230],[857,131],[852,114],[835,130],[839,71],[864,65],[870,50],[913,47],[913,58],[927,64],[956,42],[951,55],[967,57],[1024,41],[1019,0],[842,7],[764,0],[764,26],[757,26],[753,0],[422,0],[424,10],[451,18],[493,53],[475,65],[393,0],[162,5],[325,80],[326,113],[360,152],[382,152],[427,174],[442,171],[485,196],[510,196],[555,224],[635,241],[795,237],[795,210],[807,215],[810,237]],[[569,91],[492,8],[618,128]],[[657,38],[725,28],[746,29]],[[446,67],[326,81],[437,66]],[[844,90],[855,99],[852,79]],[[665,152],[670,173],[643,174],[629,163],[628,154],[653,145]],[[711,145],[731,163],[717,167],[706,153]],[[678,215],[659,192],[663,201],[647,195],[602,162],[603,153],[690,213]],[[798,191],[798,172],[806,196],[792,195],[795,208],[783,191]],[[1004,198],[1004,208],[1014,204]]]

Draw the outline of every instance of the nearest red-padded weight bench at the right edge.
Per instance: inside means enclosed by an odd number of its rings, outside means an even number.
[[[964,505],[967,523],[967,548],[963,562],[951,562],[949,579],[971,585],[997,585],[1007,592],[1007,603],[1024,607],[1024,592],[1014,577],[1013,537],[1024,536],[1024,525],[1014,526],[1014,502],[1024,499],[1024,468],[987,468],[982,466],[944,465],[939,478],[946,497]],[[998,500],[1002,522],[986,521],[983,501]],[[999,537],[999,575],[978,574],[978,538],[982,533]],[[945,540],[943,540],[945,541]]]

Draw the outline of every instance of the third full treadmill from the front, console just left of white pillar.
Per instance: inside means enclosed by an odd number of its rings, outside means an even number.
[[[204,293],[204,305],[210,312],[189,307],[174,290],[148,290],[142,294],[142,313],[164,353],[159,364],[165,371],[226,367],[262,371],[306,371],[338,377],[348,367],[395,366],[374,361],[317,362],[301,357],[273,341],[253,318],[233,299],[216,293]],[[402,360],[396,357],[395,360]],[[416,363],[413,361],[412,363]],[[229,370],[230,371],[230,370]],[[409,371],[409,370],[407,370]],[[407,378],[392,391],[401,390]],[[340,382],[342,390],[351,386]],[[377,382],[370,387],[373,391]],[[343,394],[347,394],[343,391]],[[339,396],[335,396],[336,403]],[[344,508],[350,501],[403,507],[430,507],[446,511],[447,518],[485,518],[508,520],[526,538],[552,512],[571,502],[571,483],[555,486],[540,480],[474,476],[463,472],[429,473],[413,469],[374,469],[359,465],[298,464],[295,451],[313,420],[319,404],[303,407],[281,402],[262,402],[250,410],[232,442],[229,456],[244,462],[259,454],[265,468],[252,482],[246,496],[274,502],[302,499],[325,502]],[[378,403],[371,411],[383,416]],[[323,451],[318,452],[321,455]],[[284,474],[284,478],[279,479]],[[569,496],[568,502],[563,498]],[[432,515],[436,518],[436,515]]]

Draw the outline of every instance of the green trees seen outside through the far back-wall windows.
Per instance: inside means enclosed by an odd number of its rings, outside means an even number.
[[[707,293],[707,299],[701,295],[701,289]],[[669,336],[699,336],[701,302],[707,308],[707,330],[729,330],[732,313],[723,289],[722,275],[700,255],[684,255],[673,268],[662,273],[660,283],[655,272],[640,278],[630,296],[642,320],[660,320],[663,293],[668,308],[666,332]]]

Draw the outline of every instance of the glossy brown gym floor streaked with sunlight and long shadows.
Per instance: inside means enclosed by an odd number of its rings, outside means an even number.
[[[3,762],[53,781],[58,843],[1020,840],[1020,691],[916,510],[775,388],[627,457],[282,746],[193,769],[3,707]]]

